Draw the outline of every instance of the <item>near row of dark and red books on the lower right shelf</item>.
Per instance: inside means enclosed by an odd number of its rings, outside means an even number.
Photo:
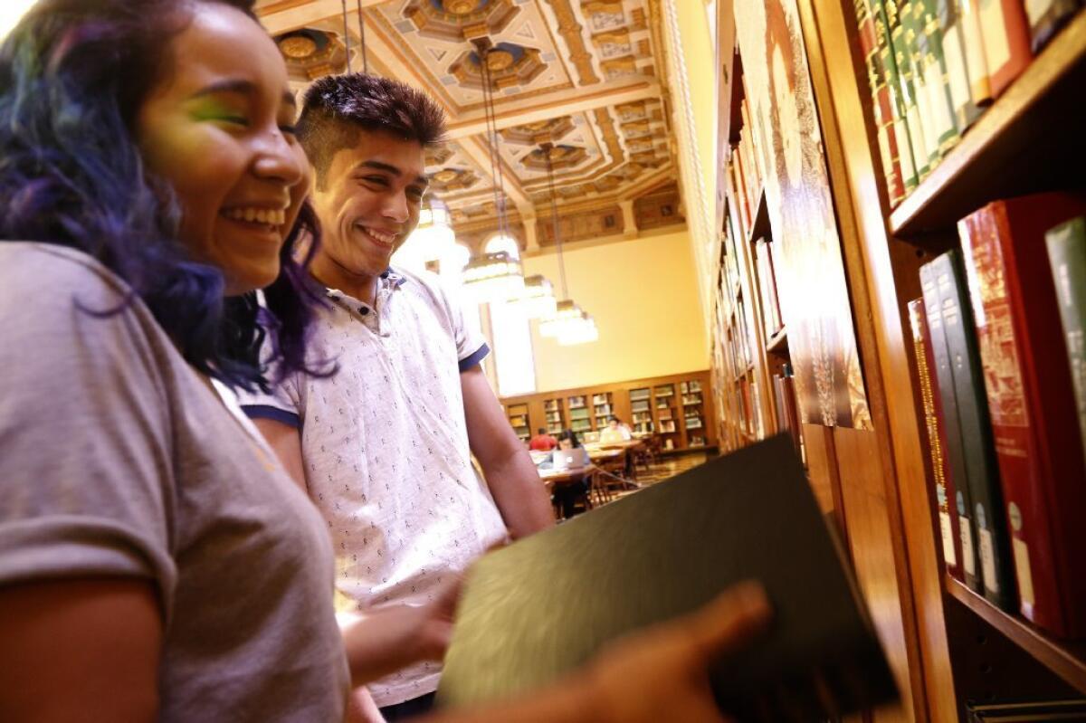
[[[909,304],[943,559],[989,601],[1086,637],[1086,194],[997,201]]]

